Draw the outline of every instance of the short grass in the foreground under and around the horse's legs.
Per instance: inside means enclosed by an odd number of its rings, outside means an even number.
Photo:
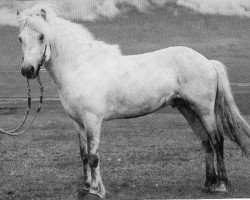
[[[13,124],[11,113],[5,115],[9,126],[7,118]],[[232,190],[209,194],[203,189],[204,153],[181,115],[105,122],[100,151],[108,199],[250,197],[250,161],[231,142],[225,146]],[[46,102],[22,136],[1,136],[0,154],[2,199],[96,199],[83,198],[78,138],[58,102]]]

